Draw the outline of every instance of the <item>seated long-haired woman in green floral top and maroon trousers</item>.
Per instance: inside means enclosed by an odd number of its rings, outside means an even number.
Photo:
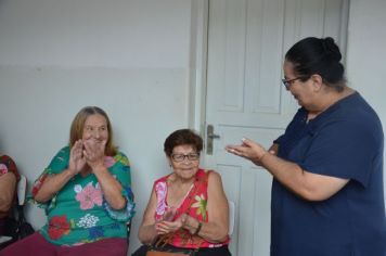
[[[113,144],[106,113],[82,108],[59,151],[35,182],[33,200],[48,222],[0,252],[5,255],[127,255],[126,222],[133,215],[129,161]]]

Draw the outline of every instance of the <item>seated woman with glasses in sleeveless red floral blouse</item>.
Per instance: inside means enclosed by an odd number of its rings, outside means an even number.
[[[194,255],[228,256],[229,209],[221,177],[200,168],[202,138],[190,129],[172,132],[164,143],[171,174],[154,182],[133,255],[146,255],[147,244],[195,251]],[[155,242],[157,241],[157,242]]]

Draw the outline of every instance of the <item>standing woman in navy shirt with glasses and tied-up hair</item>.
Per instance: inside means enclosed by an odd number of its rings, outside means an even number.
[[[295,43],[283,84],[301,107],[284,135],[227,146],[273,176],[272,256],[386,255],[383,129],[340,59],[332,38]]]

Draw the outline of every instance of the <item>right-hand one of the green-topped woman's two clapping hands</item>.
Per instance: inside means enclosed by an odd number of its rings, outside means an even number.
[[[83,156],[87,161],[87,164],[92,168],[97,168],[99,166],[103,166],[104,164],[104,150],[106,146],[106,141],[102,140],[85,140],[83,141],[85,150]]]

